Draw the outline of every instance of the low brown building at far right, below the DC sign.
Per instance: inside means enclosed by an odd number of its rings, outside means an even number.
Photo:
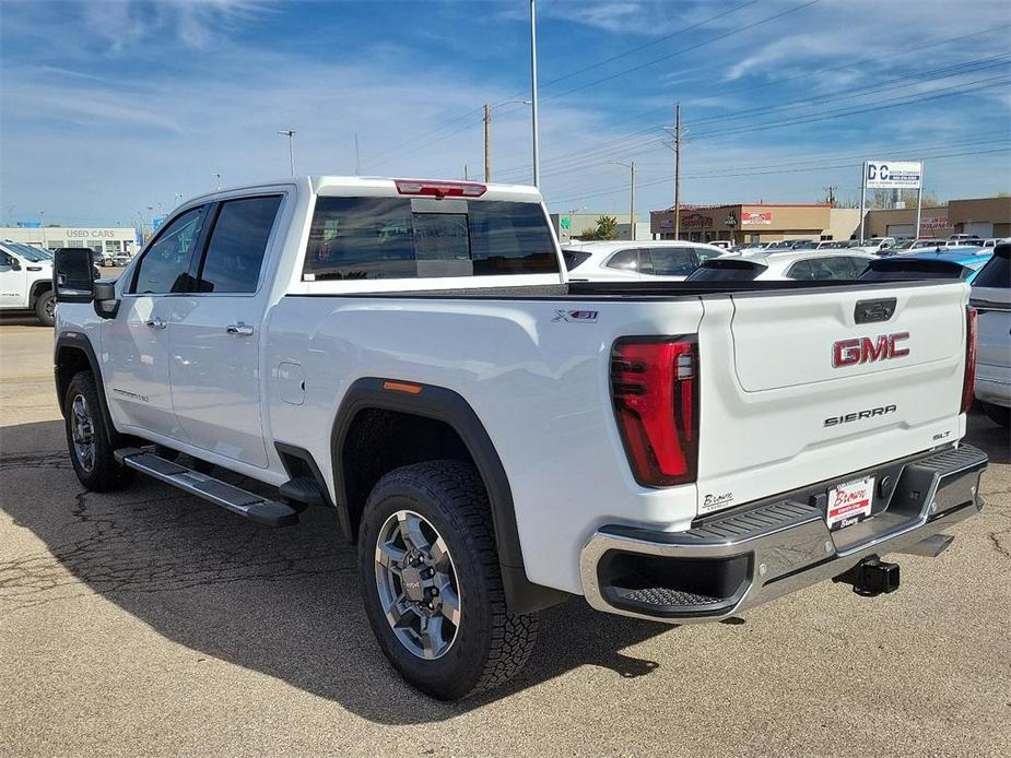
[[[916,209],[868,211],[866,237],[912,237]],[[940,208],[920,211],[920,237],[947,239],[954,234],[1011,237],[1011,197],[952,200]]]

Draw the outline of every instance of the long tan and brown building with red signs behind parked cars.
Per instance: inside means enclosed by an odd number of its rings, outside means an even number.
[[[650,232],[674,239],[673,209],[649,214]],[[860,211],[827,203],[734,203],[681,208],[681,239],[709,242],[769,242],[778,239],[849,239],[860,226]]]

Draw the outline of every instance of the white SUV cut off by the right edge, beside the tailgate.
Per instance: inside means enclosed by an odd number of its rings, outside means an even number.
[[[976,309],[976,400],[997,424],[1011,423],[1011,244],[1001,242],[973,282]]]

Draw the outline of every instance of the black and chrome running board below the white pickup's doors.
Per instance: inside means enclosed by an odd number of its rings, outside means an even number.
[[[298,511],[286,502],[267,500],[213,476],[166,461],[140,448],[122,448],[115,453],[122,465],[161,479],[166,484],[221,506],[233,513],[268,526],[290,526],[298,522]]]

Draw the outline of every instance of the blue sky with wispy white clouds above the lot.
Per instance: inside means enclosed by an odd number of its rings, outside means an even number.
[[[1011,190],[1006,0],[539,0],[552,211]],[[0,2],[0,221],[131,225],[298,174],[530,183],[527,0]],[[357,153],[355,150],[357,141]]]

